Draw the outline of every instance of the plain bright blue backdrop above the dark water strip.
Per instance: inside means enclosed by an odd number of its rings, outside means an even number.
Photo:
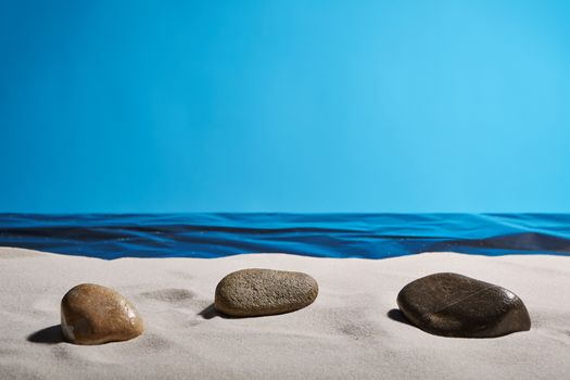
[[[2,1],[0,212],[570,212],[569,1]]]

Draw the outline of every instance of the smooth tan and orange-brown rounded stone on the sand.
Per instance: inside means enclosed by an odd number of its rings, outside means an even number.
[[[135,306],[113,289],[81,283],[62,299],[64,338],[75,344],[127,341],[144,330]]]

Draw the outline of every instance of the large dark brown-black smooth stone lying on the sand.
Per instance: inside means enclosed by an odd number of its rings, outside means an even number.
[[[458,274],[434,274],[408,283],[397,305],[414,325],[436,335],[493,338],[531,328],[529,312],[515,293]]]

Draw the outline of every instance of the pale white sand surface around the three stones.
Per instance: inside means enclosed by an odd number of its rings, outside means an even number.
[[[319,296],[279,316],[227,319],[213,313],[218,280],[246,267],[306,271],[319,282]],[[510,289],[527,304],[531,331],[454,339],[396,320],[390,311],[400,289],[438,271]],[[99,346],[61,342],[61,297],[81,282],[129,297],[144,319],[144,334]],[[1,379],[570,379],[568,257],[102,261],[0,249],[0,305]]]

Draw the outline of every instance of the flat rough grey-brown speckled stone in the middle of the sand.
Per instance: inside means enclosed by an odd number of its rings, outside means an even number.
[[[306,274],[252,268],[224,277],[216,287],[214,306],[232,317],[257,317],[303,308],[317,294],[317,281]]]

